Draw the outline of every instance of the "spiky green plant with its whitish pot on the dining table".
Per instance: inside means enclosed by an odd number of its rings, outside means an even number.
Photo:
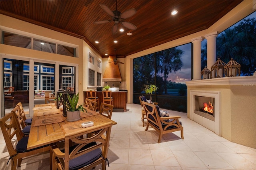
[[[70,97],[67,95],[67,101],[63,101],[64,105],[66,105],[67,111],[67,121],[74,122],[80,119],[80,111],[86,111],[83,105],[78,105],[79,93]],[[87,112],[87,111],[86,111]]]

